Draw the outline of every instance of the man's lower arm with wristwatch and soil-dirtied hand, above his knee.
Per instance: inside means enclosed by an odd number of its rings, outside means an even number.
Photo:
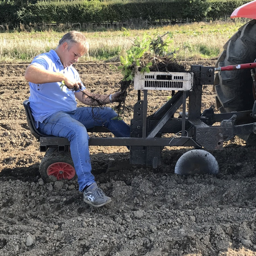
[[[115,92],[112,94],[112,102],[115,102],[117,98],[120,96],[121,92]],[[99,100],[101,103],[108,104],[110,103],[109,94],[93,94],[90,93],[87,89],[75,92],[75,97],[82,103],[89,106],[98,106],[98,102],[92,100],[90,97],[93,97]]]

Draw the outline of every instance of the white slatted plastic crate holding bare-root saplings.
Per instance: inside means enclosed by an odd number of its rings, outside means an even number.
[[[136,72],[135,90],[191,90],[193,75],[179,72]]]

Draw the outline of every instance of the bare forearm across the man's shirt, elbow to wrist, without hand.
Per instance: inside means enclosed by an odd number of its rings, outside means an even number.
[[[61,73],[40,69],[34,65],[27,67],[24,77],[28,82],[35,84],[61,82],[65,79]]]

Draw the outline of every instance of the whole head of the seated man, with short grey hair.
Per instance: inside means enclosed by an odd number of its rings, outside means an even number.
[[[88,50],[89,44],[86,37],[75,30],[65,34],[55,49],[64,67],[69,67],[77,62],[79,57],[86,54]]]

